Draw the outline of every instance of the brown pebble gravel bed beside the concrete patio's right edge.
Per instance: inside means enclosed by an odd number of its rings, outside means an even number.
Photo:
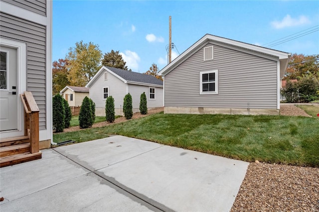
[[[319,168],[251,163],[231,212],[319,212]]]

